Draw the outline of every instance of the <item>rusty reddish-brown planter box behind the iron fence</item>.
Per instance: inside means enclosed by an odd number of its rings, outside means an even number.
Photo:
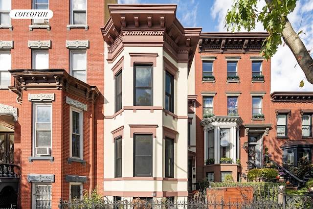
[[[218,206],[217,209],[225,208],[230,203],[245,204],[253,200],[253,187],[208,187],[206,188],[206,199],[208,203],[222,203],[224,206]],[[240,206],[239,206],[240,208]]]

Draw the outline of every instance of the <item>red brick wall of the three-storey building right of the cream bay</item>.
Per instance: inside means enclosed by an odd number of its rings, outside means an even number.
[[[203,163],[204,159],[204,136],[203,127],[200,122],[202,120],[202,96],[201,92],[216,92],[213,98],[213,112],[215,116],[227,116],[227,96],[225,92],[241,92],[238,96],[238,114],[244,120],[245,124],[258,124],[258,123],[270,123],[270,61],[263,61],[262,74],[264,75],[265,82],[253,82],[251,83],[252,70],[250,56],[256,56],[259,54],[213,54],[213,53],[197,53],[195,54],[195,94],[196,100],[196,152],[197,152],[197,181],[201,181],[203,178]],[[204,82],[202,83],[202,61],[201,56],[216,56],[216,60],[213,62],[213,75],[215,76],[215,83]],[[238,61],[237,72],[239,75],[240,83],[226,83],[227,80],[227,61],[225,56],[241,56]],[[264,121],[252,121],[252,97],[250,92],[266,92],[263,96],[263,114],[265,115]],[[267,141],[268,137],[263,139]],[[242,144],[247,141],[245,136],[244,126],[240,127],[240,155],[241,163],[243,165],[243,172],[246,170],[247,153],[242,148]]]

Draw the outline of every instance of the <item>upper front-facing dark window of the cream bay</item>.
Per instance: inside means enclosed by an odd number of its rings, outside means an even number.
[[[134,106],[153,106],[152,65],[134,66]]]

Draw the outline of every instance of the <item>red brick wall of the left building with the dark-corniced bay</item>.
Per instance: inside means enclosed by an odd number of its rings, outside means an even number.
[[[32,0],[12,0],[12,9],[31,9]],[[56,93],[53,101],[53,157],[54,162],[34,161],[28,162],[32,149],[31,114],[32,106],[28,101],[28,93],[51,93],[52,91],[23,92],[22,105],[16,101],[17,95],[8,90],[0,90],[0,103],[17,107],[19,121],[15,123],[15,162],[22,166],[21,184],[19,191],[19,205],[22,208],[30,208],[31,191],[27,182],[27,174],[55,174],[55,183],[52,184],[53,208],[58,208],[60,197],[68,198],[69,184],[65,183],[65,175],[88,176],[88,183],[84,188],[89,191],[98,186],[103,191],[103,103],[104,96],[104,41],[100,27],[104,26],[104,0],[87,0],[87,23],[89,30],[73,28],[67,30],[69,24],[69,1],[53,0],[49,2],[49,9],[53,11],[53,18],[49,20],[51,30],[34,28],[29,30],[31,20],[12,19],[13,30],[0,29],[2,41],[14,42],[11,49],[12,69],[31,69],[31,49],[28,48],[28,40],[51,40],[49,48],[49,68],[69,70],[69,50],[66,48],[66,40],[89,40],[87,49],[87,83],[96,86],[100,91],[95,107],[91,104],[88,111],[84,112],[84,159],[88,161],[86,166],[81,163],[67,163],[69,157],[69,129],[68,129],[68,105],[64,103],[67,94],[62,91]],[[11,84],[13,85],[13,78]],[[71,96],[73,98],[73,96]],[[62,102],[63,99],[63,102]],[[77,98],[75,98],[77,99]],[[79,99],[77,99],[79,100]],[[83,102],[83,101],[81,101]],[[86,101],[84,102],[86,103]],[[63,117],[63,120],[62,120]],[[95,150],[99,152],[95,153]],[[57,152],[58,151],[58,152]],[[20,157],[21,156],[21,157]],[[62,191],[62,192],[61,192]]]

